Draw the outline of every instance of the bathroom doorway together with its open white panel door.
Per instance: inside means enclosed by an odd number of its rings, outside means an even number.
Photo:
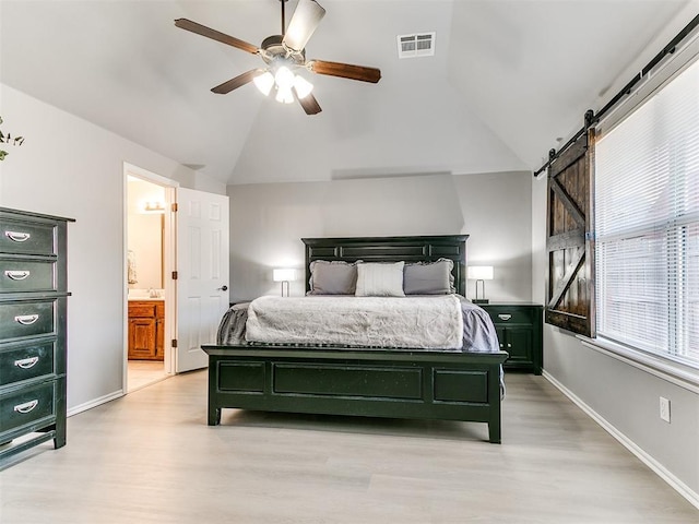
[[[128,393],[208,366],[201,346],[215,344],[228,309],[230,235],[228,196],[180,188],[127,163],[123,174],[122,391]],[[146,222],[156,223],[154,233],[145,233]]]

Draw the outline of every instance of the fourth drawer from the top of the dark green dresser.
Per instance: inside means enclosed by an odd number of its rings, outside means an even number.
[[[23,344],[0,352],[0,386],[56,372],[56,342]]]

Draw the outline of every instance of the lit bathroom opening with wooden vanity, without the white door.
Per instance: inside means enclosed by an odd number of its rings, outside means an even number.
[[[123,391],[132,393],[173,374],[171,336],[176,295],[173,264],[174,186],[125,164],[126,302]]]

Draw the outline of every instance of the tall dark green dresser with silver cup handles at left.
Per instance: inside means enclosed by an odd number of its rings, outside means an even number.
[[[0,460],[66,445],[69,222],[0,207]]]

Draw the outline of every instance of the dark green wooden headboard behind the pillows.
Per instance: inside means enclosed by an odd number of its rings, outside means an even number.
[[[301,238],[306,245],[306,290],[310,290],[313,260],[354,262],[454,262],[454,287],[466,296],[466,239],[469,235],[420,237]]]

